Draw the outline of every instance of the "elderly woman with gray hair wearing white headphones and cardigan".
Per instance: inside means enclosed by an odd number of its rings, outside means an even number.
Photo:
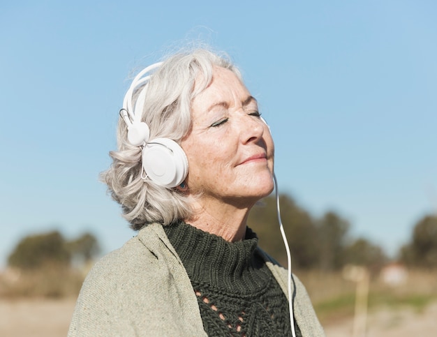
[[[258,248],[249,211],[274,189],[274,144],[225,57],[145,68],[103,173],[138,235],[97,262],[70,336],[323,336],[299,280]],[[291,317],[291,319],[290,319]]]

